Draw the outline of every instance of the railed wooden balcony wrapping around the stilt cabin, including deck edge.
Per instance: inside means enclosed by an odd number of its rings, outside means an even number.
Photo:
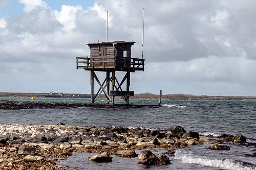
[[[144,71],[144,59],[116,56],[76,57],[76,69],[94,71]]]

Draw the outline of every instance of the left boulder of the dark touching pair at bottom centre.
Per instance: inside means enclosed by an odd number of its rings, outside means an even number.
[[[151,151],[142,151],[137,157],[138,163],[152,165],[156,163],[156,155]]]

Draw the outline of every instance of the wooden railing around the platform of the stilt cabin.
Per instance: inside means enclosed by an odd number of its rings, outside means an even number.
[[[115,56],[108,57],[76,57],[76,68],[94,68],[94,67],[121,67],[121,68],[133,68],[134,70],[144,71],[144,59],[139,58],[116,58]],[[80,64],[80,65],[79,65]]]

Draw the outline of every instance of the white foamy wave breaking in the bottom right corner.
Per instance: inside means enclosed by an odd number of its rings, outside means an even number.
[[[176,150],[175,159],[181,160],[183,163],[194,163],[203,166],[218,167],[223,169],[232,169],[232,170],[256,170],[254,165],[246,165],[242,161],[232,161],[230,159],[214,159],[207,158],[203,156],[182,154],[180,150]]]

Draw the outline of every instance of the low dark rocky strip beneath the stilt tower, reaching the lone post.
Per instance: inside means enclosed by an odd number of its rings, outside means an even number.
[[[88,104],[88,103],[60,103],[60,102],[24,102],[24,101],[0,101],[0,109],[5,110],[18,110],[18,109],[68,109],[68,108],[113,108],[113,107],[159,107],[158,105],[105,105],[105,104]]]

